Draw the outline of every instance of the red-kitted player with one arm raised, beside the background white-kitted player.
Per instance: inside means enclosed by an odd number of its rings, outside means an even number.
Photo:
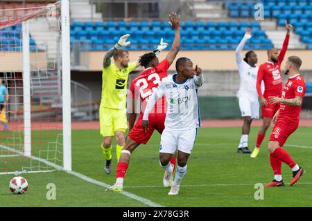
[[[284,39],[281,52],[275,48],[268,50],[268,61],[261,64],[257,76],[257,91],[261,102],[261,111],[263,117],[263,124],[258,133],[256,146],[250,157],[257,157],[260,145],[266,136],[266,131],[271,124],[272,117],[279,109],[279,104],[271,104],[268,102],[269,96],[281,97],[281,89],[283,87],[281,79],[281,61],[284,60],[286,50],[288,47],[289,34],[291,32],[291,24],[286,23],[287,34]],[[264,93],[261,91],[261,81],[264,81]]]

